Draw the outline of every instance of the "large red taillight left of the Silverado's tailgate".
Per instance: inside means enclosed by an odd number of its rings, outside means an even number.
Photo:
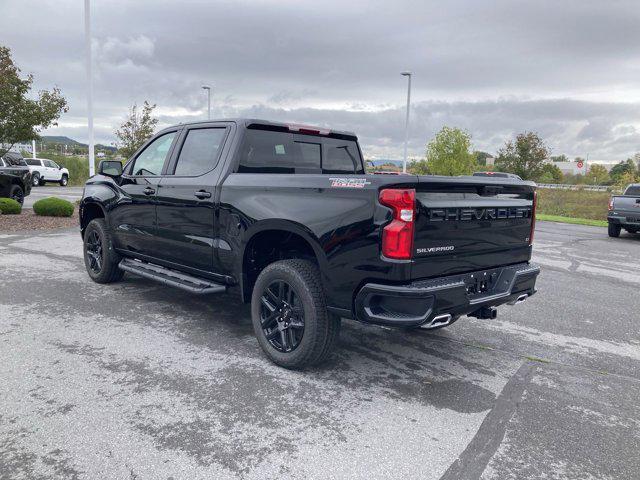
[[[380,203],[393,209],[393,220],[382,229],[382,254],[408,260],[413,249],[416,191],[388,188],[380,191]]]

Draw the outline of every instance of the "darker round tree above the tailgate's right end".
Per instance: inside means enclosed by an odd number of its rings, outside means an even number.
[[[534,132],[525,132],[516,136],[515,142],[507,141],[498,151],[496,167],[524,180],[536,180],[542,175],[548,156],[549,151],[540,137]]]

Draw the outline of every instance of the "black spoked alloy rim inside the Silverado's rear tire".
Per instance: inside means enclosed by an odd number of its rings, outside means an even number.
[[[276,280],[260,297],[260,324],[265,338],[279,352],[294,351],[304,335],[304,308],[295,290]]]

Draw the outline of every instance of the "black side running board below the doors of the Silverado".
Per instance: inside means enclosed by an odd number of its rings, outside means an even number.
[[[212,282],[187,273],[177,272],[159,265],[144,263],[130,258],[123,258],[118,264],[118,267],[120,270],[132,273],[133,275],[156,280],[165,285],[180,288],[191,293],[222,293],[227,290],[227,287],[221,283]]]

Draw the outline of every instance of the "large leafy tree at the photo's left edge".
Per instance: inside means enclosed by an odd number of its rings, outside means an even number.
[[[33,76],[21,78],[11,50],[0,46],[0,156],[18,142],[36,140],[68,110],[58,88],[39,91],[37,100],[27,98],[32,84]]]

